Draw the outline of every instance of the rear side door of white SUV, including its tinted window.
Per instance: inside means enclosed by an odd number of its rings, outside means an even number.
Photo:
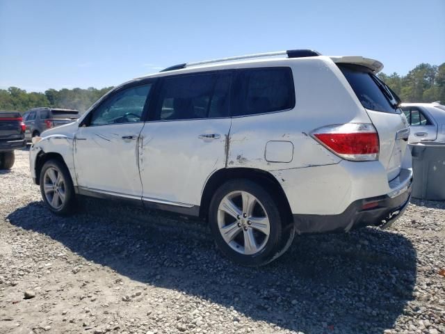
[[[200,205],[208,177],[226,165],[231,72],[164,77],[140,138],[143,200]]]

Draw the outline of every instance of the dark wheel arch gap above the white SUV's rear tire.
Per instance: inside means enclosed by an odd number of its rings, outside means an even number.
[[[245,179],[256,182],[263,186],[271,193],[274,199],[277,200],[277,205],[280,207],[280,212],[283,213],[285,221],[293,221],[291,206],[287,200],[286,194],[282,189],[280,182],[270,173],[265,170],[256,168],[222,168],[213,173],[207,180],[204,190],[202,191],[200,202],[200,217],[207,220],[209,213],[209,206],[216,189],[223,183],[234,180]]]

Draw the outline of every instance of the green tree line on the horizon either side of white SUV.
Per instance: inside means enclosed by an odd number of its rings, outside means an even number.
[[[380,73],[378,76],[401,97],[403,102],[441,101],[445,104],[445,63],[438,66],[421,63],[405,76],[396,72]],[[38,106],[49,106],[83,112],[111,88],[113,87],[60,90],[51,88],[44,93],[28,93],[17,87],[10,87],[0,89],[0,110],[23,112]]]

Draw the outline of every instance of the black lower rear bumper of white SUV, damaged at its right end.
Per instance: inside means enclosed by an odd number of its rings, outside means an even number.
[[[296,231],[300,234],[348,232],[369,225],[387,228],[403,214],[409,204],[411,185],[412,178],[398,189],[398,193],[356,200],[341,214],[293,214]]]

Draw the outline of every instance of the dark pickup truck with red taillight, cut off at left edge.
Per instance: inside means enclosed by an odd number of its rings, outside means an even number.
[[[26,147],[25,124],[18,111],[0,111],[0,169],[14,165],[14,150]]]

